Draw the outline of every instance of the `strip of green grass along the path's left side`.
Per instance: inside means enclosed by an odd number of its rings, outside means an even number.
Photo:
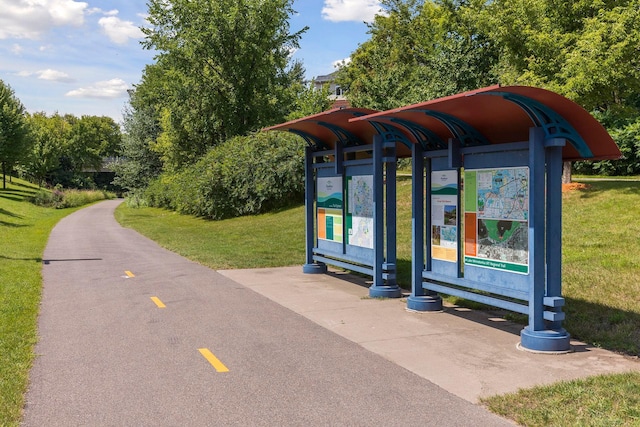
[[[42,289],[42,254],[51,229],[76,209],[51,209],[26,201],[38,188],[13,178],[0,189],[0,425],[18,425]]]

